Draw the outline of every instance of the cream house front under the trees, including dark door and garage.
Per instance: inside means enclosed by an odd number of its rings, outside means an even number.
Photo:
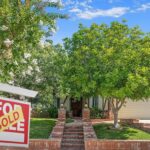
[[[57,106],[60,106],[61,101],[57,103]],[[82,116],[82,108],[85,103],[88,104],[89,108],[98,107],[102,109],[102,99],[100,96],[92,97],[88,100],[75,100],[68,99],[64,104],[68,112],[72,113],[73,117]],[[109,111],[109,105],[106,105],[106,111]],[[150,100],[149,101],[137,101],[133,102],[131,100],[126,100],[125,106],[123,106],[119,111],[119,118],[126,119],[150,119]]]

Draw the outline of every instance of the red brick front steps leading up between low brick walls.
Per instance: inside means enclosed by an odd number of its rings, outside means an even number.
[[[61,150],[84,150],[82,124],[65,125]]]

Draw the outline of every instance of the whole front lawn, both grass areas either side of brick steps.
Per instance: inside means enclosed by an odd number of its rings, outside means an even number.
[[[67,122],[72,122],[68,120]],[[30,124],[30,138],[31,139],[47,139],[55,126],[56,119],[47,118],[32,118]],[[132,128],[129,126],[122,126],[121,129],[112,128],[112,124],[98,124],[94,125],[94,130],[98,139],[118,139],[118,140],[150,140],[150,133],[142,130]]]

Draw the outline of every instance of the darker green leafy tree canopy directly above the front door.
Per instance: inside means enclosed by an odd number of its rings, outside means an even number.
[[[95,79],[100,76],[99,52],[92,42],[99,34],[91,28],[80,25],[79,31],[72,38],[65,39],[64,45],[68,53],[65,85],[69,89],[69,95],[73,97],[89,98],[98,94]]]

